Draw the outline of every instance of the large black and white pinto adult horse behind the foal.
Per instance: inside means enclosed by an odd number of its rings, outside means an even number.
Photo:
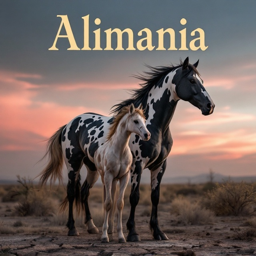
[[[132,134],[129,146],[132,151],[133,162],[131,168],[131,194],[130,216],[126,224],[128,241],[140,241],[140,236],[135,227],[135,210],[140,198],[140,178],[142,170],[148,168],[151,173],[151,201],[152,212],[150,229],[156,240],[168,240],[166,234],[158,225],[158,202],[160,197],[160,184],[166,169],[166,158],[172,148],[172,136],[169,124],[172,120],[177,102],[185,100],[199,108],[203,115],[212,114],[214,103],[206,92],[203,81],[197,71],[198,61],[191,65],[188,58],[178,66],[160,66],[150,68],[145,76],[137,76],[144,81],[141,88],[133,91],[130,99],[115,105],[113,113],[118,113],[122,107],[142,104],[145,109],[146,127],[151,133],[151,139],[143,141],[138,135]],[[85,113],[77,116],[67,125],[62,126],[48,141],[46,154],[49,161],[42,171],[41,182],[51,183],[59,178],[62,180],[63,158],[68,169],[67,197],[64,201],[69,206],[68,235],[78,236],[74,225],[73,203],[76,199],[77,206],[82,202],[85,210],[85,223],[89,233],[98,233],[94,226],[88,197],[90,188],[98,179],[93,162],[94,153],[106,141],[108,128],[114,116]],[[85,164],[87,177],[80,187],[80,169]]]

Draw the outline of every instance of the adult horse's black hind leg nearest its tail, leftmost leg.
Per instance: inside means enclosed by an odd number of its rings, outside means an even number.
[[[74,171],[68,173],[67,198],[68,198],[68,236],[79,236],[73,218],[73,203],[75,200],[76,174]]]

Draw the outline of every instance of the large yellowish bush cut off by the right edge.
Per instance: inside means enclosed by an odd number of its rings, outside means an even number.
[[[203,204],[217,215],[250,215],[256,210],[256,190],[245,182],[217,184],[206,193]]]

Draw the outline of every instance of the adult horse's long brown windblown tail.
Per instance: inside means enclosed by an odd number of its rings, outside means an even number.
[[[62,178],[62,166],[63,166],[63,154],[61,147],[61,135],[66,125],[60,127],[47,142],[46,156],[49,156],[48,164],[38,175],[40,177],[41,187],[46,185],[47,180],[50,180],[50,187],[58,179],[63,184]]]

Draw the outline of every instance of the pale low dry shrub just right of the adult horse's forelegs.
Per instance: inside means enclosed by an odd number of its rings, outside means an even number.
[[[185,225],[210,224],[215,215],[211,210],[202,208],[198,203],[177,197],[172,201],[172,213],[178,214],[179,222]]]

